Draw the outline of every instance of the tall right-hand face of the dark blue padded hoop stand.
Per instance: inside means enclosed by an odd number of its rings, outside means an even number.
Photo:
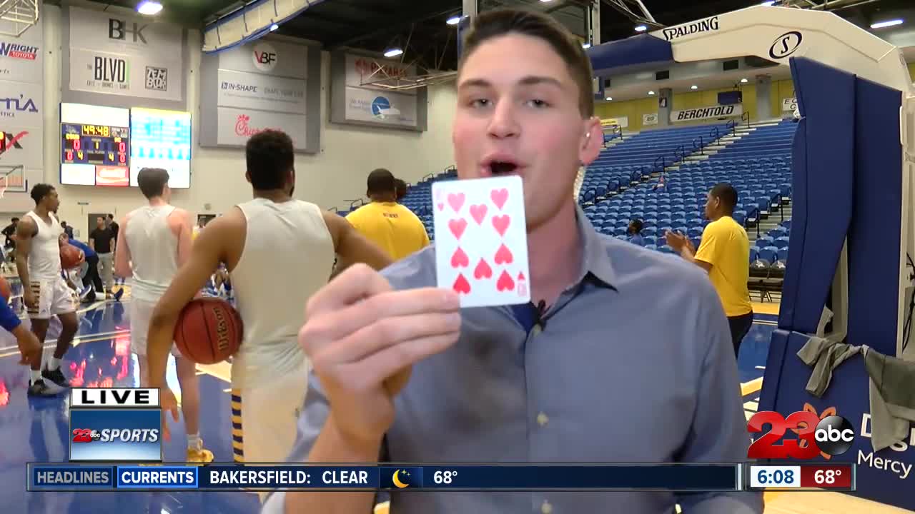
[[[902,216],[902,92],[858,78],[855,208],[848,231],[848,341],[896,355]]]

